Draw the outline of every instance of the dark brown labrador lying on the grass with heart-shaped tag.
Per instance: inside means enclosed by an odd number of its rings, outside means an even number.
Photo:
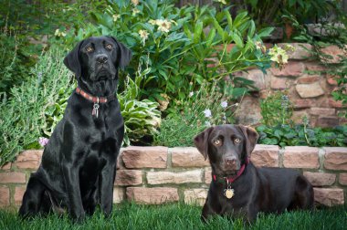
[[[198,134],[195,146],[212,168],[212,182],[202,220],[213,214],[244,218],[252,223],[259,212],[312,209],[313,189],[292,169],[256,168],[249,162],[258,133],[242,125],[220,125]]]

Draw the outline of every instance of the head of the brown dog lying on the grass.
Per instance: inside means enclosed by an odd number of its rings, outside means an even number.
[[[247,161],[258,141],[258,133],[242,125],[219,125],[195,136],[197,150],[207,156],[214,173],[235,173]]]

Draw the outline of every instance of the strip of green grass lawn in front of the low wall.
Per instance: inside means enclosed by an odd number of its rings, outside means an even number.
[[[115,205],[109,218],[97,212],[82,224],[74,224],[67,215],[50,214],[23,221],[17,214],[1,210],[0,229],[347,229],[347,206],[313,212],[260,214],[254,225],[246,227],[240,219],[231,221],[220,216],[204,225],[200,213],[201,207],[186,204],[120,204]]]

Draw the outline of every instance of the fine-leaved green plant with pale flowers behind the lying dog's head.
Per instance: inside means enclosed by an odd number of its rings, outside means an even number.
[[[238,103],[230,96],[226,85],[205,82],[192,90],[187,99],[176,99],[174,106],[163,119],[160,131],[154,136],[154,145],[193,146],[193,138],[200,131],[213,125],[233,123]]]

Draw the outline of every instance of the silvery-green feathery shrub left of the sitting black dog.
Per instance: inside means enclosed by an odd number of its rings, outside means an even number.
[[[37,140],[47,126],[45,110],[58,101],[58,91],[70,93],[71,74],[62,63],[63,54],[55,48],[42,55],[30,78],[3,94],[0,102],[0,165],[14,160],[24,149],[38,148]]]

